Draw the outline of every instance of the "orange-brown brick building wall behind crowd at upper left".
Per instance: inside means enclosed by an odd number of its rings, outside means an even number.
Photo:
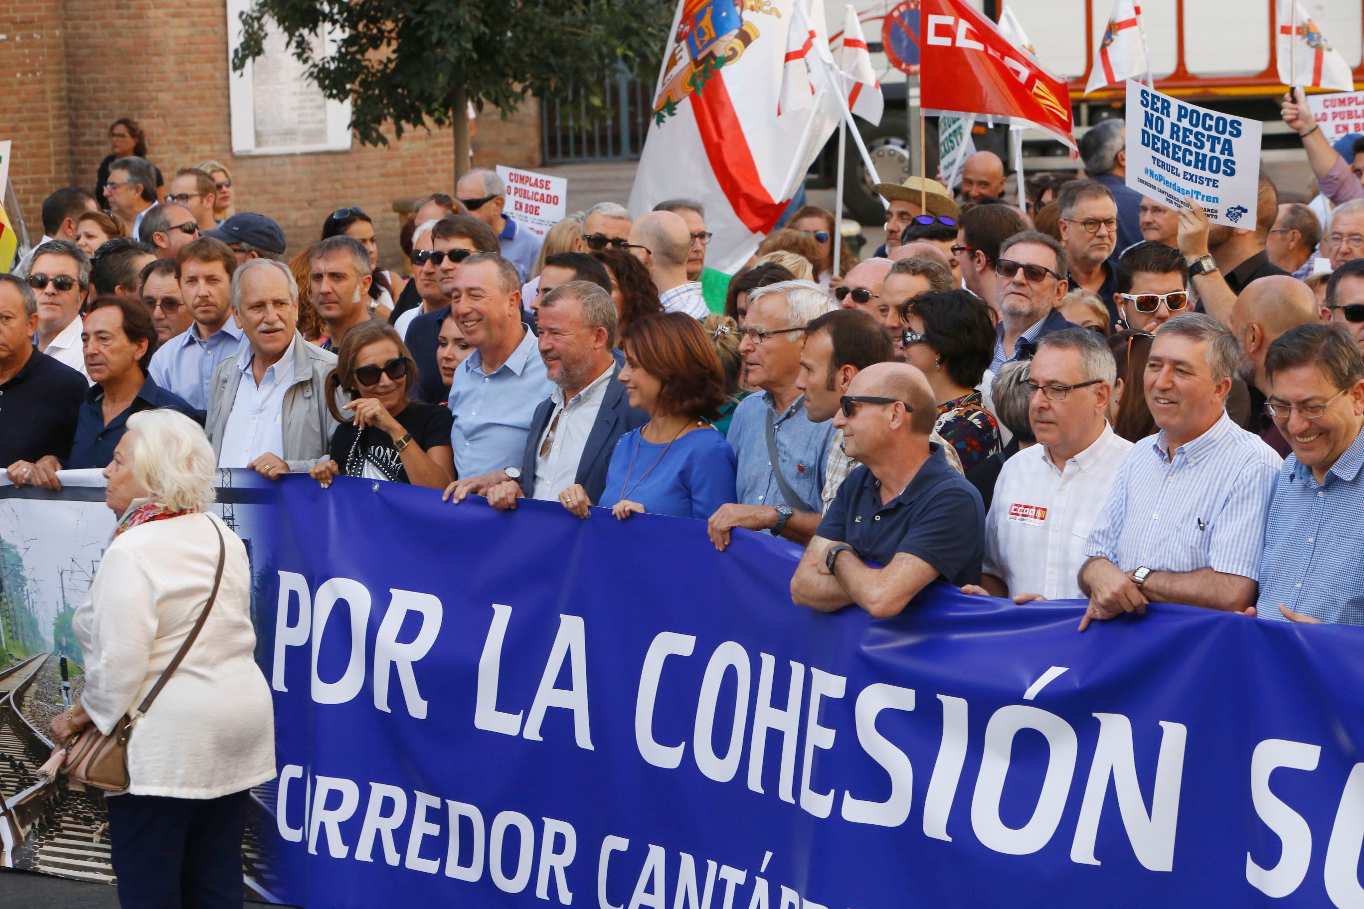
[[[318,238],[338,206],[375,221],[383,264],[398,264],[393,203],[453,191],[449,129],[387,134],[390,144],[349,151],[232,154],[225,0],[0,0],[0,140],[12,139],[10,180],[29,234],[42,234],[40,209],[53,189],[94,191],[109,154],[108,128],[135,119],[147,157],[169,180],[205,158],[233,173],[237,211],[280,222],[289,252]],[[486,110],[475,124],[476,166],[537,166],[540,113],[533,101],[503,120]],[[104,204],[104,200],[100,200]]]

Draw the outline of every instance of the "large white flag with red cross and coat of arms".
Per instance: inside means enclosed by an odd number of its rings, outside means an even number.
[[[799,65],[788,67],[787,55],[807,40]],[[679,0],[630,214],[678,196],[700,200],[713,234],[707,273],[738,271],[837,127],[828,53],[822,3]]]

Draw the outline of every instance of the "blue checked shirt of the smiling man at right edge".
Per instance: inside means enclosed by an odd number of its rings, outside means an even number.
[[[1348,626],[1364,626],[1364,432],[1316,482],[1296,455],[1279,467],[1264,525],[1260,560],[1262,619],[1294,612]]]

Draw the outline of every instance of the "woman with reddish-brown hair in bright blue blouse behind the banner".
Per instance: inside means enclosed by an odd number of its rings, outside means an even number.
[[[621,335],[618,376],[649,421],[621,436],[597,503],[621,521],[636,511],[705,521],[737,499],[734,450],[711,422],[724,403],[724,373],[701,323],[679,312],[632,322]],[[588,517],[581,485],[559,495]]]

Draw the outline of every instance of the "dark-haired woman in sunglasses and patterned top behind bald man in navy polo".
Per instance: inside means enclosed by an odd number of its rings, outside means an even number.
[[[1000,450],[1000,428],[981,384],[994,356],[990,311],[970,290],[921,293],[900,304],[904,361],[928,376],[938,405],[933,428],[970,470]]]

